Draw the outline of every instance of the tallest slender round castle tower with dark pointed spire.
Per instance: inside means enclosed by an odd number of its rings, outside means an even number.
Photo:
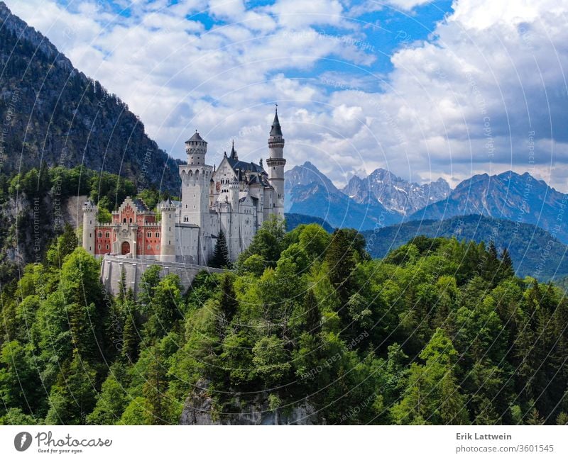
[[[268,182],[273,186],[273,213],[284,218],[284,138],[278,120],[278,104],[274,113],[271,133],[268,136],[268,150],[270,157],[266,160],[268,166]]]

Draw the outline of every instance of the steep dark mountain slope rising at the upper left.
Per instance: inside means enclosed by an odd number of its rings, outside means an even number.
[[[48,165],[121,174],[179,192],[178,162],[148,138],[126,103],[79,72],[0,1],[0,172]]]

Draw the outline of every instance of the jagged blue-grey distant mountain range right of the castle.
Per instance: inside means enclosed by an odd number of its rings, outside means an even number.
[[[420,186],[376,169],[362,179],[352,178],[339,190],[317,167],[305,162],[285,172],[285,179],[288,211],[315,215],[333,227],[379,230],[401,222],[476,214],[515,225],[532,224],[568,243],[568,212],[564,212],[568,195],[526,172],[479,174],[452,190],[443,179]]]

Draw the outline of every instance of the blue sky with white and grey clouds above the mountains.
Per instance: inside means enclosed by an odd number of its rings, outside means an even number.
[[[195,129],[209,162],[232,139],[266,157],[278,102],[288,167],[338,186],[377,167],[452,185],[514,169],[568,191],[567,0],[6,4],[174,157]]]

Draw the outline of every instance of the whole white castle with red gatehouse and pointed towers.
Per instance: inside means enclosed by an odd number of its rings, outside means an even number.
[[[136,259],[145,267],[153,264],[150,261],[163,267],[207,266],[223,231],[234,261],[264,220],[271,215],[284,218],[283,149],[278,106],[268,136],[268,172],[262,159],[259,164],[239,160],[234,142],[217,168],[207,164],[207,142],[196,130],[185,142],[187,164],[180,165],[181,201],[160,203],[158,221],[141,199],[127,197],[112,213],[111,223],[97,222],[97,206],[87,201],[82,246],[95,257],[121,260],[121,265]],[[104,270],[103,264],[103,278]],[[116,281],[116,276],[111,278]]]

